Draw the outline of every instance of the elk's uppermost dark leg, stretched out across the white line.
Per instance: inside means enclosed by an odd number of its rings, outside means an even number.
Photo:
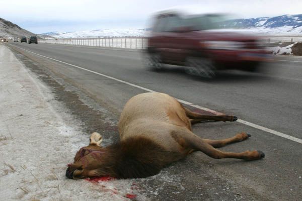
[[[237,121],[237,117],[236,116],[232,116],[232,115],[201,115],[198,113],[194,113],[192,111],[190,111],[189,109],[184,108],[186,111],[186,116],[189,119],[192,120],[196,120],[196,121],[191,121],[191,123],[199,123],[202,121],[207,121],[207,120],[214,120],[214,121],[229,121],[229,122],[235,122]]]

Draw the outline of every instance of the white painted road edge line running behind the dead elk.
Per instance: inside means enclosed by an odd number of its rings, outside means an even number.
[[[18,47],[18,46],[15,46],[15,47]],[[20,47],[18,47],[20,48]],[[23,48],[20,48],[22,50],[25,50],[27,52],[30,52],[32,54],[36,54],[38,56],[41,56],[41,57],[44,57],[44,58],[47,58],[47,59],[51,59],[51,60],[54,60],[54,61],[57,61],[57,62],[60,62],[60,63],[63,63],[63,64],[67,64],[69,66],[73,66],[73,67],[76,67],[76,68],[79,68],[79,69],[82,69],[82,70],[86,70],[88,72],[92,72],[94,74],[97,74],[97,75],[101,75],[101,76],[104,76],[104,77],[107,77],[109,79],[113,79],[113,80],[116,80],[118,82],[122,82],[122,83],[125,83],[125,84],[128,84],[130,86],[133,86],[133,87],[136,87],[136,88],[140,88],[142,90],[145,90],[145,91],[148,91],[148,92],[156,92],[152,89],[148,89],[148,88],[145,88],[145,87],[142,87],[142,86],[138,86],[136,84],[132,84],[130,82],[127,82],[127,81],[124,81],[124,80],[121,80],[121,79],[117,79],[117,78],[114,78],[114,77],[111,77],[111,76],[108,76],[108,75],[105,75],[105,74],[102,74],[102,73],[99,73],[99,72],[96,72],[96,71],[93,71],[93,70],[89,70],[89,69],[86,69],[86,68],[83,68],[83,67],[80,67],[80,66],[77,66],[77,65],[73,65],[73,64],[70,64],[70,63],[66,63],[64,61],[60,61],[60,60],[57,60],[57,59],[53,59],[53,58],[50,58],[50,57],[47,57],[47,56],[44,56],[44,55],[41,55],[41,54],[37,54],[35,52],[32,52],[32,51],[29,51],[29,50],[26,50],[26,49],[23,49]],[[192,104],[190,102],[187,102],[186,100],[182,100],[182,99],[177,99],[180,103],[182,104],[186,104],[186,105],[189,105],[189,106],[192,106],[194,108],[198,108],[198,109],[201,109],[201,110],[205,110],[205,111],[208,111],[208,112],[211,112],[211,113],[214,113],[214,114],[222,114],[222,113],[219,113],[219,112],[216,112],[216,111],[213,111],[213,110],[210,110],[210,109],[207,109],[207,108],[204,108],[204,107],[201,107],[201,106],[198,106],[198,105],[195,105],[195,104]],[[267,133],[271,133],[271,134],[274,134],[276,136],[279,136],[279,137],[282,137],[282,138],[285,138],[285,139],[288,139],[288,140],[291,140],[291,141],[294,141],[294,142],[297,142],[297,143],[300,143],[302,144],[302,139],[299,139],[299,138],[295,138],[293,136],[290,136],[290,135],[287,135],[287,134],[284,134],[284,133],[280,133],[278,131],[274,131],[272,129],[268,129],[268,128],[265,128],[263,126],[259,126],[259,125],[256,125],[256,124],[253,124],[251,122],[247,122],[247,121],[244,121],[242,119],[238,119],[237,122],[239,123],[242,123],[242,124],[245,124],[247,126],[250,126],[250,127],[253,127],[253,128],[256,128],[256,129],[259,129],[259,130],[262,130],[262,131],[265,131]]]

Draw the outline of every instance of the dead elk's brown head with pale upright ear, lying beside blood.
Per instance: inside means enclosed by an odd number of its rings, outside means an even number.
[[[80,179],[85,177],[105,176],[102,175],[102,161],[105,148],[101,147],[102,136],[94,132],[90,136],[90,143],[82,147],[75,154],[74,162],[66,169],[66,177]]]

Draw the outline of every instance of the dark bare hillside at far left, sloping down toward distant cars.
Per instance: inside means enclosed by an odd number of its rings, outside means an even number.
[[[0,18],[0,38],[15,38],[21,36],[36,36],[35,34],[22,29],[18,25]]]

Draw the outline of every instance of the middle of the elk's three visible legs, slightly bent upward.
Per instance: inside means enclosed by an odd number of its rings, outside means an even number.
[[[204,138],[202,138],[202,140],[205,141],[206,143],[208,143],[209,145],[213,146],[214,148],[219,148],[219,147],[224,147],[225,145],[231,144],[234,142],[241,142],[243,140],[248,139],[249,137],[251,137],[250,134],[242,132],[242,133],[236,134],[232,138],[226,138],[223,140],[210,140],[210,139],[204,139]]]

